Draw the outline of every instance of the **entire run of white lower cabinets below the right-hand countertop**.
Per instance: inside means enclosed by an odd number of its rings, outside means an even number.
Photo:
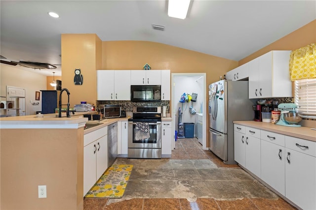
[[[235,161],[239,165],[255,175],[260,172],[256,165],[261,167],[261,177],[257,175],[260,180],[299,208],[316,210],[315,141],[238,124],[234,125],[234,129]],[[257,136],[250,138],[249,133],[255,132],[255,135],[257,130],[260,139]],[[257,164],[258,157],[260,164]]]

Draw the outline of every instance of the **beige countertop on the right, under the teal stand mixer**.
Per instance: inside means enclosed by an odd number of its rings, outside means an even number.
[[[234,121],[234,123],[287,136],[297,137],[300,139],[316,141],[316,130],[312,130],[310,127],[290,127],[256,121]]]

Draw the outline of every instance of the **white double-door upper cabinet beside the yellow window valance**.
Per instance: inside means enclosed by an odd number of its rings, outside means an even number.
[[[250,62],[249,99],[292,97],[291,51],[271,51]]]

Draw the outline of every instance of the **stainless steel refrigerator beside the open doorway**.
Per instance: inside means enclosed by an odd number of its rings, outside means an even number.
[[[226,164],[234,164],[233,121],[253,119],[248,81],[220,80],[208,86],[208,94],[210,150]]]

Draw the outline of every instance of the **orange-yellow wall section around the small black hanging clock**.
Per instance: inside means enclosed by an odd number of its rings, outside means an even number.
[[[81,101],[95,104],[96,69],[101,66],[101,44],[95,34],[61,35],[62,88],[70,92],[71,107]],[[82,85],[74,84],[75,69],[81,70]],[[62,104],[67,104],[66,93],[63,93]]]

